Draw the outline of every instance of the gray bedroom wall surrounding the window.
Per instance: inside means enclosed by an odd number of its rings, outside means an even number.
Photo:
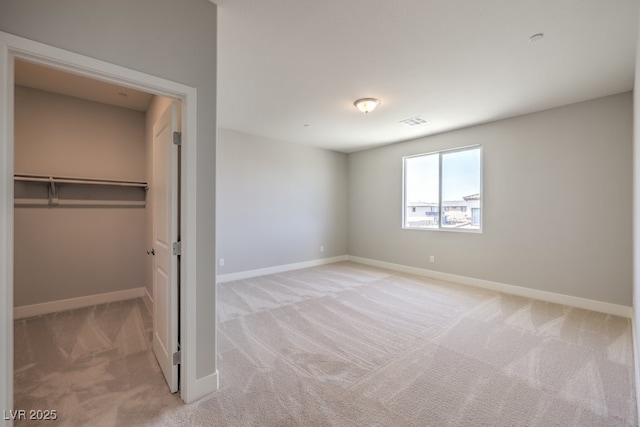
[[[632,128],[625,93],[351,154],[348,253],[630,306]],[[482,234],[403,230],[402,156],[469,144]]]

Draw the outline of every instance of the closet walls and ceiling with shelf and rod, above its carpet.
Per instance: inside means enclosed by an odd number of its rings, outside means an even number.
[[[19,61],[15,81],[16,317],[151,300],[150,133],[170,100]]]

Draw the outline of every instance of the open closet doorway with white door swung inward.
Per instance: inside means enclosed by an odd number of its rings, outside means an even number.
[[[170,311],[177,311],[179,257],[167,248],[178,242],[179,101],[29,62],[14,66],[14,317],[142,296],[155,314],[153,348],[176,392],[178,316]],[[151,272],[156,267],[161,274]],[[55,316],[46,317],[51,325],[21,321],[31,326],[21,338],[55,336],[58,369],[116,348],[122,356],[148,348],[146,312],[131,307],[131,321],[116,326],[103,313],[110,306],[94,308],[64,333]],[[15,384],[27,373],[21,366],[47,377],[38,367],[51,363],[38,359],[21,354]]]

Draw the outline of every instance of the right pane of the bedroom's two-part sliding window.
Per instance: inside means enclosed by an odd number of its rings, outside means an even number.
[[[480,149],[442,153],[442,227],[480,228]]]

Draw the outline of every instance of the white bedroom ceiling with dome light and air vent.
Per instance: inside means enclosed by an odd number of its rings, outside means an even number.
[[[268,138],[354,152],[633,88],[636,0],[212,1],[218,124]]]

